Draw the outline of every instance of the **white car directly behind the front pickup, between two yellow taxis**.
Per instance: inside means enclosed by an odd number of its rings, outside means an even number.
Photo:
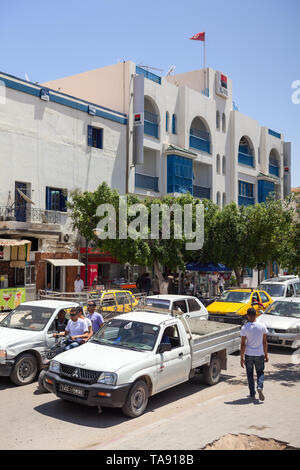
[[[206,307],[196,297],[190,295],[150,295],[146,298],[146,306],[166,309],[169,312],[178,310],[186,318],[200,317],[208,320],[208,311]]]

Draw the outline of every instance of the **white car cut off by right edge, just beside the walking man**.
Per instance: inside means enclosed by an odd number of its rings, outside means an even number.
[[[257,321],[267,327],[269,344],[300,347],[300,297],[275,300]]]

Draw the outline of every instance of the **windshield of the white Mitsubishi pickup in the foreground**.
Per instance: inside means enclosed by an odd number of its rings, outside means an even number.
[[[113,319],[93,336],[92,342],[107,346],[151,351],[156,343],[159,326],[130,320]]]

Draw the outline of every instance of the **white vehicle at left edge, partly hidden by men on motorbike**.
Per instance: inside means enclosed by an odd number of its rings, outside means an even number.
[[[0,376],[16,385],[33,382],[47,363],[47,352],[54,346],[57,317],[68,315],[76,302],[38,300],[24,302],[0,322]],[[67,316],[66,315],[66,316]]]

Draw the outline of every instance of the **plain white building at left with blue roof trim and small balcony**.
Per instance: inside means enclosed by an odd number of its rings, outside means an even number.
[[[19,267],[0,249],[0,287],[36,277],[37,289],[73,291],[80,247],[66,201],[103,181],[125,192],[127,117],[8,74],[0,85],[0,238],[31,241]]]

